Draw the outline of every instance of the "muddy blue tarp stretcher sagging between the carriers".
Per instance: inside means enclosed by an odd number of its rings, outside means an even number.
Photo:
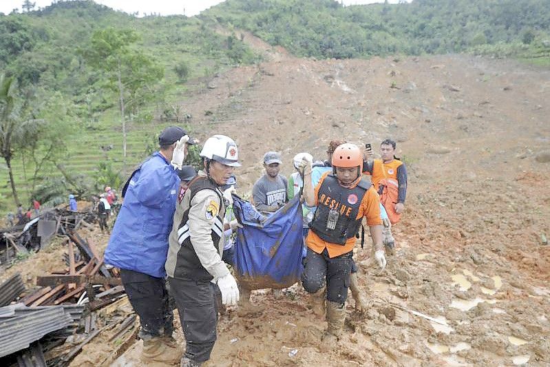
[[[238,229],[233,264],[246,289],[282,289],[299,280],[302,265],[302,205],[299,196],[264,216],[250,202],[233,196]]]

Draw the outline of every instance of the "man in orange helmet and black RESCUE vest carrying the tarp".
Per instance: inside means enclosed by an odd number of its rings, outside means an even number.
[[[363,217],[370,227],[376,248],[374,258],[381,269],[386,264],[379,196],[370,182],[361,176],[361,150],[349,143],[339,145],[332,153],[331,163],[332,172],[321,176],[315,189],[307,179],[311,175],[312,163],[303,160],[299,167],[304,175],[306,204],[317,206],[306,239],[308,253],[302,284],[312,295],[317,315],[322,315],[326,309],[328,329],[324,343],[327,346],[337,343],[346,318],[344,305],[350,284],[355,233]]]

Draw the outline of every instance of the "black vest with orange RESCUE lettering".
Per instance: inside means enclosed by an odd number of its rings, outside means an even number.
[[[334,174],[329,174],[323,180],[317,195],[317,211],[309,227],[321,240],[346,244],[348,238],[355,236],[361,227],[362,218],[356,219],[363,196],[372,184],[367,178],[361,178],[353,189],[341,187]],[[338,212],[338,220],[334,229],[327,229],[330,209]]]

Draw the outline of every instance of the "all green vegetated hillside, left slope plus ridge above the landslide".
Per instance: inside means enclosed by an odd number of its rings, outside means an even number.
[[[220,25],[235,34],[218,34]],[[0,76],[10,86],[4,98],[0,88],[0,108],[7,111],[11,101],[6,116],[19,124],[8,134],[8,120],[2,123],[0,151],[11,159],[23,205],[33,195],[55,202],[122,180],[120,95],[130,171],[154,149],[162,127],[192,121],[184,100],[189,89],[260,61],[239,29],[319,59],[473,52],[550,65],[548,0],[347,7],[332,0],[227,0],[191,18],[138,18],[93,1],[60,0],[0,14]],[[0,211],[13,209],[8,166],[0,159]]]

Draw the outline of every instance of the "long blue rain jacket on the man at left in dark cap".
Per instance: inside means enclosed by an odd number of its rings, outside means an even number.
[[[158,151],[134,171],[105,249],[106,264],[166,276],[168,235],[179,185],[178,174]]]

